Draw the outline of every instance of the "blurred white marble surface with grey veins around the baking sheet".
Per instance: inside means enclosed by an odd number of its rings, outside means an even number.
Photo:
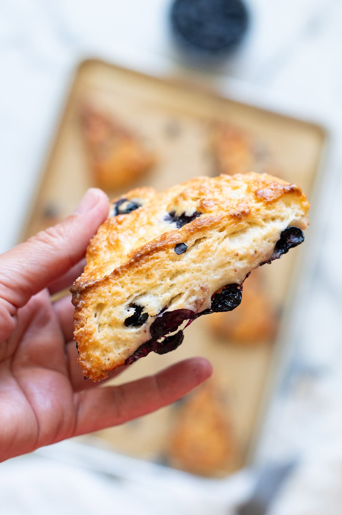
[[[0,250],[12,246],[20,232],[70,75],[80,59],[99,56],[161,75],[193,75],[170,45],[168,4],[2,0]],[[331,134],[323,171],[328,180],[319,192],[313,220],[316,242],[291,321],[293,350],[259,459],[305,454],[274,515],[337,515],[342,491],[342,2],[248,4],[253,25],[239,53],[215,73],[196,72],[197,79],[236,98],[314,119]]]

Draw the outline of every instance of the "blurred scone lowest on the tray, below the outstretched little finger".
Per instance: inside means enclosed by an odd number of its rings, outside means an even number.
[[[240,452],[228,406],[212,381],[196,388],[178,410],[167,449],[170,465],[205,476],[237,467]]]

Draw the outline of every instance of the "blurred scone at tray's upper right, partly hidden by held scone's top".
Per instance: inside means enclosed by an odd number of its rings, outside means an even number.
[[[215,167],[221,174],[258,173],[279,175],[267,147],[247,131],[234,125],[217,122],[211,129],[211,152]]]

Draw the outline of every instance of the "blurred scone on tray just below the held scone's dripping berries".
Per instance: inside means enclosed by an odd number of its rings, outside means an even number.
[[[214,336],[222,341],[254,345],[271,341],[277,322],[274,301],[259,270],[255,270],[243,285],[240,306],[233,313],[213,313],[207,323]]]

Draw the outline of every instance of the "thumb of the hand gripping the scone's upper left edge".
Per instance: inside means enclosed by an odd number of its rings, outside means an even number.
[[[91,188],[75,213],[61,224],[39,232],[0,256],[0,320],[6,303],[11,315],[15,314],[32,295],[82,259],[108,211],[107,196]]]

